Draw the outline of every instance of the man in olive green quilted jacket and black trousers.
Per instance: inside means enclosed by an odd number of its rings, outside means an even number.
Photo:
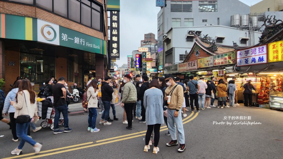
[[[128,120],[128,126],[126,129],[132,130],[132,121],[133,121],[133,108],[135,106],[135,103],[137,101],[137,89],[135,85],[133,85],[130,82],[131,76],[129,74],[126,74],[124,76],[124,90],[123,90],[123,96],[121,101],[121,106],[124,107],[127,115]]]

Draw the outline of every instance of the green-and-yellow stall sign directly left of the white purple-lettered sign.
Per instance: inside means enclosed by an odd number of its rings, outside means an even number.
[[[213,56],[213,66],[221,66],[221,65],[235,64],[235,63],[236,63],[235,51]]]

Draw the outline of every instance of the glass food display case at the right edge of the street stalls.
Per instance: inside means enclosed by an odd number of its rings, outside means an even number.
[[[270,91],[269,108],[270,109],[283,109],[283,92]]]

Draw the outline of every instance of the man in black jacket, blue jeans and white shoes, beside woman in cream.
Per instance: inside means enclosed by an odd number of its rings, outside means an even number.
[[[104,112],[102,113],[101,120],[99,125],[103,124],[104,126],[111,125],[112,123],[108,122],[109,110],[111,106],[112,93],[114,92],[111,83],[111,77],[106,76],[105,82],[101,82],[101,100],[104,105]],[[104,120],[104,121],[103,121]]]

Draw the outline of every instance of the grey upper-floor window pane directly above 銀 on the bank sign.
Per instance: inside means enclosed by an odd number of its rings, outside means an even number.
[[[69,19],[80,23],[80,2],[77,0],[69,0],[68,10]]]

